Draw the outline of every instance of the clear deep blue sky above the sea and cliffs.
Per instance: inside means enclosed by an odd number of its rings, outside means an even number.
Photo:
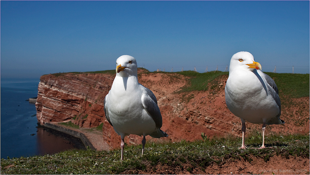
[[[115,69],[224,71],[248,51],[263,71],[309,73],[309,1],[1,1],[1,78]]]

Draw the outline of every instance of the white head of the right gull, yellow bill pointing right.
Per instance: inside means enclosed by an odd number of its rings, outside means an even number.
[[[230,60],[229,71],[233,71],[235,69],[244,69],[253,71],[254,69],[262,70],[262,66],[259,62],[254,61],[254,57],[249,52],[238,52],[235,53]]]

